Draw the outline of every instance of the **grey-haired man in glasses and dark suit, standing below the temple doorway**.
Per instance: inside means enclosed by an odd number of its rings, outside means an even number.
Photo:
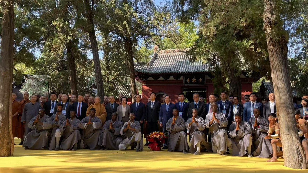
[[[206,116],[205,103],[199,101],[199,94],[198,93],[193,94],[193,100],[194,100],[194,102],[189,103],[189,106],[188,106],[188,118],[193,117],[192,109],[196,108],[198,110],[198,116],[205,119],[205,116]]]

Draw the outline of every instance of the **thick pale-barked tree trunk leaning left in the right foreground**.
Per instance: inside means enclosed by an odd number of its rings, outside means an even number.
[[[276,12],[275,0],[264,0],[264,30],[270,57],[277,117],[282,136],[284,166],[306,169],[306,157],[295,123],[290,75],[287,59],[287,33],[283,30]]]

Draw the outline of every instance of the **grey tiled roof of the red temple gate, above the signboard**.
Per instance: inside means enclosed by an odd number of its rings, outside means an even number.
[[[201,60],[194,61],[185,54],[188,49],[160,50],[154,53],[146,64],[135,64],[135,71],[144,74],[168,74],[168,73],[196,73],[209,70],[208,64]]]

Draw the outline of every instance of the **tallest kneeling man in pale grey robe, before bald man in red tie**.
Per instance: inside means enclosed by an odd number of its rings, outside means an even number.
[[[227,155],[227,144],[229,143],[227,135],[228,120],[225,115],[217,111],[217,103],[212,103],[212,113],[205,117],[205,127],[209,128],[212,139],[212,149],[214,153]]]

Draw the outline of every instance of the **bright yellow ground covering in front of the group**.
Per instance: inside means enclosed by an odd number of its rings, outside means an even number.
[[[18,144],[20,140],[15,139]],[[3,173],[51,172],[307,172],[294,170],[267,159],[221,156],[202,152],[202,155],[156,151],[147,147],[142,152],[127,151],[49,151],[25,150],[16,145],[13,157],[0,158]]]

